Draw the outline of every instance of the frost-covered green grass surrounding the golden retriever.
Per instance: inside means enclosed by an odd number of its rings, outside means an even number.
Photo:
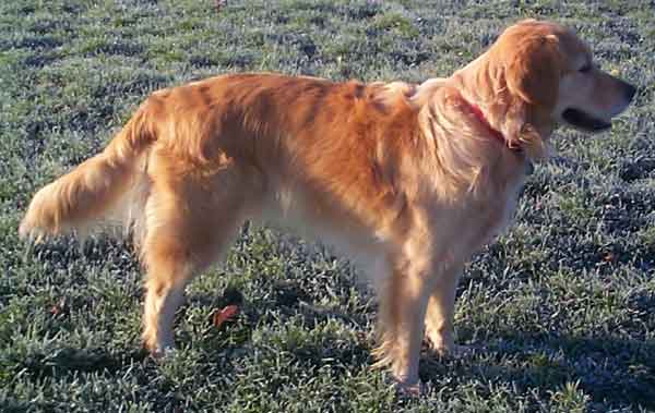
[[[3,1],[0,4],[0,411],[655,411],[655,7],[559,1]],[[334,80],[443,76],[526,16],[574,26],[639,85],[609,133],[559,131],[515,224],[460,284],[478,351],[421,359],[398,398],[370,368],[376,304],[314,244],[247,227],[199,277],[179,351],[140,350],[129,245],[29,247],[34,192],[99,150],[152,90],[270,70]],[[241,303],[221,328],[215,308]]]

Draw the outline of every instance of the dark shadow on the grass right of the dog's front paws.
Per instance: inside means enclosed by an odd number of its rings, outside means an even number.
[[[590,402],[655,408],[655,343],[612,337],[503,335],[462,357],[421,356],[420,376],[434,388],[510,382],[550,398],[567,384]],[[483,390],[484,391],[484,390]],[[491,394],[489,394],[491,396]]]

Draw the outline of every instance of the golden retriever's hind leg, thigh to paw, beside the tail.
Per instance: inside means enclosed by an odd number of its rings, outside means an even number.
[[[158,179],[154,185],[142,259],[147,270],[143,340],[155,355],[174,345],[174,317],[187,283],[221,257],[242,222],[243,189],[230,182],[234,177],[223,175],[202,184]]]

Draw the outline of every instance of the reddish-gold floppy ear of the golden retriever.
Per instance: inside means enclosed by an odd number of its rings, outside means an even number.
[[[528,105],[552,109],[557,102],[562,58],[556,36],[545,35],[514,44],[504,74],[511,95]]]

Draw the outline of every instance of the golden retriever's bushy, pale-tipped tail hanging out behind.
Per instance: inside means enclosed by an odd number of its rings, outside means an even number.
[[[21,222],[21,236],[39,241],[71,231],[84,234],[103,224],[136,184],[140,160],[156,135],[146,101],[105,150],[36,193]]]

